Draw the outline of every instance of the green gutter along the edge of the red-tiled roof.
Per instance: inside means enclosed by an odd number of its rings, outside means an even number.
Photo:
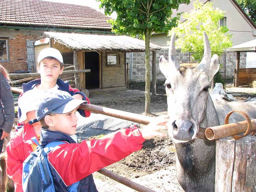
[[[86,32],[86,33],[102,33],[102,34],[114,34],[110,31],[96,31],[96,30],[82,30],[82,29],[59,29],[59,28],[34,28],[34,27],[12,27],[12,26],[0,26],[0,29],[23,29],[23,30],[41,30],[41,31],[74,31],[74,32]]]

